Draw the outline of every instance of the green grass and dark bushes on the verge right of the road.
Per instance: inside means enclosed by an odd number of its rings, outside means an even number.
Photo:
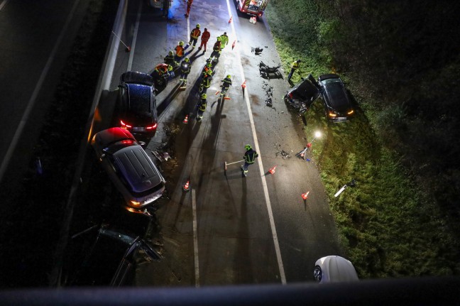
[[[460,24],[452,1],[271,1],[285,72],[335,72],[356,116],[327,124],[318,99],[307,138],[344,256],[361,278],[460,274]],[[334,194],[356,180],[339,196]]]

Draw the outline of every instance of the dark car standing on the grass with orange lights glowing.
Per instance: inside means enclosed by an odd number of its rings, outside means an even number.
[[[354,114],[354,109],[340,77],[335,74],[320,75],[318,83],[327,119],[332,122],[348,120]]]

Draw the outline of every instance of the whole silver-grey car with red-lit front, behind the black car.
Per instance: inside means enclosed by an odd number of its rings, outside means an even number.
[[[133,135],[121,128],[96,133],[92,146],[110,180],[123,195],[126,209],[145,209],[165,190],[165,179]]]

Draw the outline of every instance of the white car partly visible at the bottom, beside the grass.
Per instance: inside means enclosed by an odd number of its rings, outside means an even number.
[[[351,282],[359,280],[353,264],[340,256],[319,258],[316,265],[322,269],[321,283]]]

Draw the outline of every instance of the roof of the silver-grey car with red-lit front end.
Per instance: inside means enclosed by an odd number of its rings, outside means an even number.
[[[141,146],[116,151],[114,160],[133,192],[144,192],[162,182],[158,169]]]

